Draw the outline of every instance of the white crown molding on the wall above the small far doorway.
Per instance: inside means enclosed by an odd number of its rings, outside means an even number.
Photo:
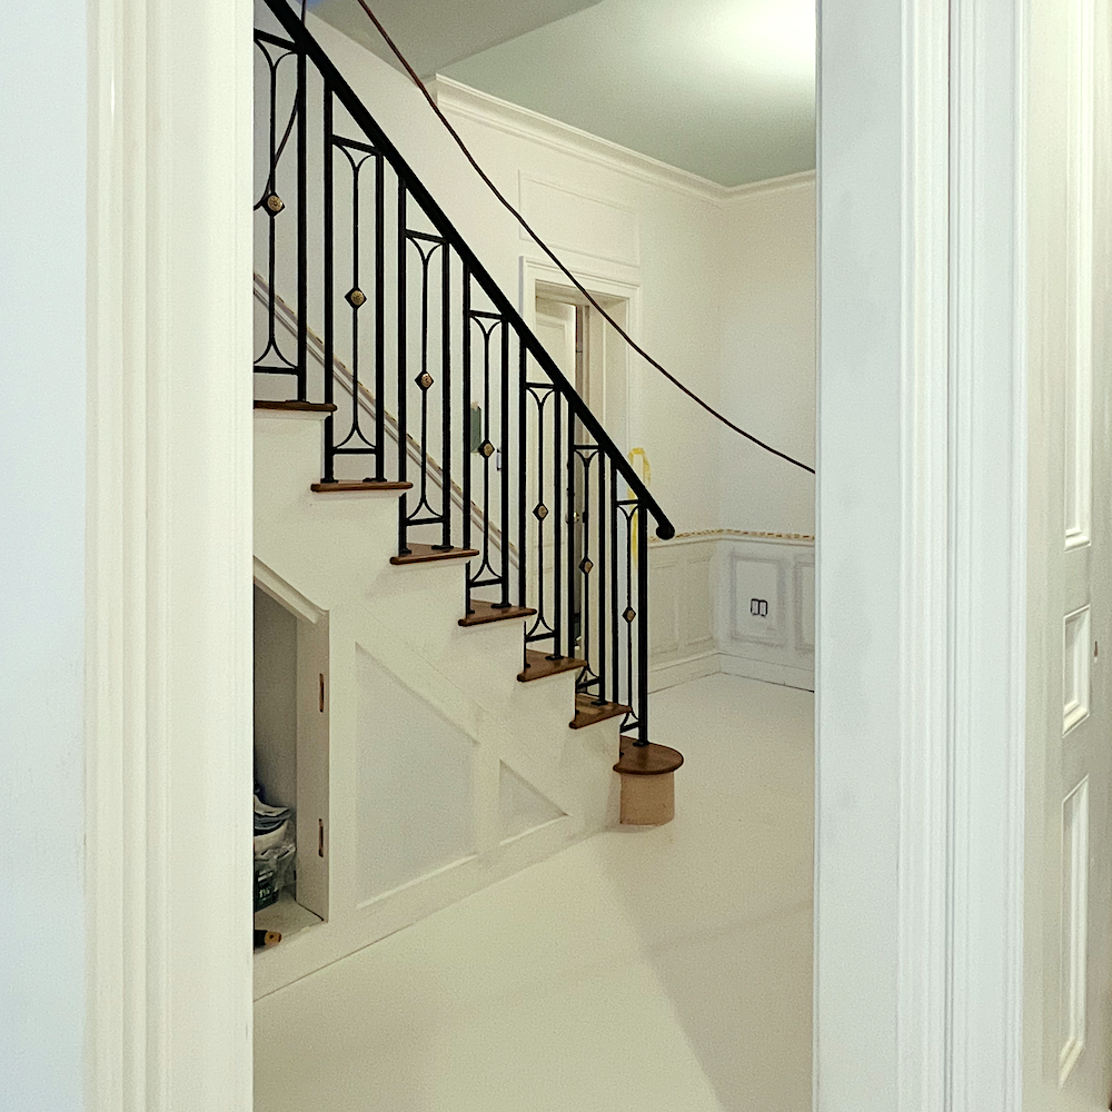
[[[702,200],[721,202],[731,196],[732,191],[726,186],[719,186],[701,178],[697,173],[668,166],[667,162],[647,155],[639,155],[628,147],[610,142],[609,139],[602,139],[569,123],[562,123],[549,116],[513,105],[490,93],[479,92],[478,89],[473,89],[443,73],[438,73],[435,80],[429,81],[428,88],[437,105],[447,115],[475,120],[518,139],[528,139],[594,166]]]

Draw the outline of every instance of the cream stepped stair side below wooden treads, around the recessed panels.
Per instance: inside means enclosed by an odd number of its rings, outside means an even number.
[[[317,495],[315,421],[256,418],[256,557],[321,610],[329,636],[328,922],[256,960],[256,996],[370,944],[617,822],[616,719],[568,728],[575,674],[517,681],[523,623],[460,628],[465,564],[391,566],[397,495]],[[358,840],[358,677],[366,653],[474,746],[474,852],[363,898]],[[563,817],[512,838],[499,821],[500,764]]]

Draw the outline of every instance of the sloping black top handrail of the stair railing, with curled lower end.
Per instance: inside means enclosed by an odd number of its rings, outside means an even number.
[[[483,292],[490,298],[498,312],[510,322],[514,330],[520,337],[522,342],[528,348],[529,354],[537,360],[545,374],[548,375],[560,394],[567,399],[575,417],[583,423],[584,428],[590,433],[598,446],[605,449],[606,455],[615,461],[629,488],[636,494],[637,498],[644,502],[653,515],[656,522],[656,535],[662,540],[668,540],[674,537],[676,534],[675,526],[673,526],[657,500],[649,494],[648,488],[625,458],[622,449],[614,443],[598,418],[590,411],[583,398],[579,397],[575,387],[572,386],[564,373],[556,366],[555,360],[548,355],[544,345],[528,325],[526,325],[522,315],[514,308],[509,298],[503,292],[502,287],[490,277],[486,267],[483,266],[478,257],[467,245],[467,241],[456,230],[444,209],[436,202],[436,199],[425,188],[425,185],[405,160],[401,152],[390,142],[389,137],[383,131],[366,106],[356,96],[351,86],[348,85],[340,71],[332,64],[331,59],[325,53],[320,43],[317,42],[301,23],[299,17],[286,0],[265,0],[265,3],[290,37],[298,53],[307,57],[316,66],[326,85],[331,88],[337,99],[344,105],[355,122],[374,140],[375,147],[385,155],[394,171],[405,182],[406,189],[413,196],[414,200],[417,201],[428,219],[436,226],[439,234],[451,245],[453,250],[464,260],[469,274],[481,287]],[[300,112],[301,122],[299,127],[304,126],[304,119],[305,112],[302,110]]]

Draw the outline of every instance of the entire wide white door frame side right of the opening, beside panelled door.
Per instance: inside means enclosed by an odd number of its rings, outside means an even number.
[[[1026,2],[820,13],[815,1106],[1017,1109]]]

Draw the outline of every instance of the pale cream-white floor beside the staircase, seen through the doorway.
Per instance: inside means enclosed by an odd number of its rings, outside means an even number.
[[[675,821],[258,1001],[257,1112],[810,1109],[813,707],[723,675],[654,695]]]

